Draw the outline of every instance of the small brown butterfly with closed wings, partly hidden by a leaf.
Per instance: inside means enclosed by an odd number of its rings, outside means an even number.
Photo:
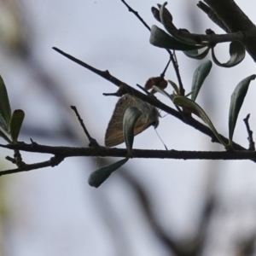
[[[126,109],[130,107],[136,107],[142,112],[142,115],[137,119],[135,124],[134,136],[146,130],[150,125],[153,125],[154,128],[159,125],[160,114],[156,108],[135,96],[126,94],[116,103],[113,115],[108,123],[105,135],[106,147],[113,147],[125,142],[123,134],[123,118]]]

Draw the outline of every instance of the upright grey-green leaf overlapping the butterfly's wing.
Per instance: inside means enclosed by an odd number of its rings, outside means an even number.
[[[141,115],[142,112],[136,107],[130,107],[125,110],[125,115],[123,119],[123,130],[128,154],[131,154],[134,139],[134,126],[137,122],[137,119],[139,119]]]

